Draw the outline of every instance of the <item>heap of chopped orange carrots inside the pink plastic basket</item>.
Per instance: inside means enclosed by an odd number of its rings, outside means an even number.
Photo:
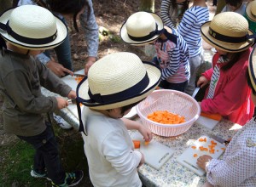
[[[179,124],[185,122],[184,116],[179,116],[169,111],[154,111],[148,114],[148,119],[162,124]]]

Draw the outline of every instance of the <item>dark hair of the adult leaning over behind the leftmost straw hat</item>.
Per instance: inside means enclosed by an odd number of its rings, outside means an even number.
[[[82,8],[87,8],[87,14],[90,15],[90,5],[87,0],[34,0],[39,6],[48,8],[52,12],[60,14],[73,14],[73,26],[76,31],[79,32],[79,27],[77,24],[77,15]]]

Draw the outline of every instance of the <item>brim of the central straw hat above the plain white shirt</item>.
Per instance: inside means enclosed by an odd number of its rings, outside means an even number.
[[[82,104],[88,106],[91,109],[108,110],[113,108],[119,108],[125,105],[131,105],[142,99],[145,99],[158,86],[160,82],[161,71],[158,66],[150,62],[143,62],[143,64],[148,73],[149,83],[148,83],[148,87],[145,88],[141,93],[137,94],[136,96],[127,95],[124,99],[115,101],[114,103],[106,102],[104,104],[100,104],[100,103],[82,102]],[[90,96],[88,94],[88,91],[89,91],[88,79],[87,77],[84,77],[84,80],[79,82],[79,85],[77,87],[77,97],[79,98],[79,100],[81,99],[89,100]]]

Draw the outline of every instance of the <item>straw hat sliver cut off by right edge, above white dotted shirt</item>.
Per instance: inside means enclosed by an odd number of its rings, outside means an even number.
[[[249,57],[248,73],[253,85],[253,89],[256,92],[256,49],[255,48],[253,48],[253,51],[251,52]]]

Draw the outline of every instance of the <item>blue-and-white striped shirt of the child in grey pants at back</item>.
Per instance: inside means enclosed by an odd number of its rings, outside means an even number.
[[[183,36],[189,46],[190,57],[202,52],[201,25],[209,20],[207,7],[193,6],[183,14],[183,20],[177,26],[177,31]]]

